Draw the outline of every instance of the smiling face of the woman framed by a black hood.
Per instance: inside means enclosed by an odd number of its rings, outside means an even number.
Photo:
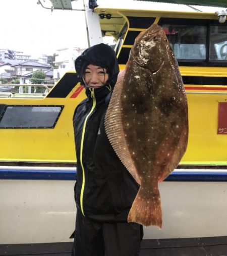
[[[84,82],[88,88],[99,88],[106,84],[109,75],[105,68],[89,64],[85,69]]]

